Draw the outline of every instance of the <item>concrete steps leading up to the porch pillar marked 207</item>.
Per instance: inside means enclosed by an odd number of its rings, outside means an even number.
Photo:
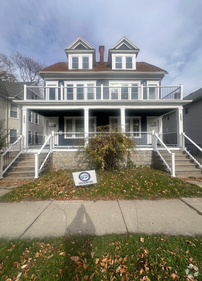
[[[171,152],[175,153],[175,175],[177,177],[202,177],[202,169],[185,151],[173,150]]]

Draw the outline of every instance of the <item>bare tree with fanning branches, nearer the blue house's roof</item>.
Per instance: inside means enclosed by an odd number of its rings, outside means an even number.
[[[27,57],[17,51],[12,52],[10,58],[19,69],[23,82],[38,81],[39,84],[42,84],[43,79],[39,76],[38,71],[46,67],[44,62],[42,63],[39,60]]]

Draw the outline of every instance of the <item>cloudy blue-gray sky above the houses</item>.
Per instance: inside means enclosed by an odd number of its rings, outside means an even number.
[[[1,2],[0,52],[17,50],[46,65],[67,61],[79,35],[96,49],[122,36],[140,48],[137,61],[165,69],[164,86],[202,87],[201,0],[6,0]]]

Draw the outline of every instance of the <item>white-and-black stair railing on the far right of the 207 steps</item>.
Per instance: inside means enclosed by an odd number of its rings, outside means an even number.
[[[182,148],[186,153],[195,161],[196,164],[202,169],[202,149],[186,136],[185,133],[182,135]]]

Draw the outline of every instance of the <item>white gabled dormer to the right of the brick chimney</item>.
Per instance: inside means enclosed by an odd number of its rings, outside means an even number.
[[[136,69],[140,49],[125,36],[114,44],[108,53],[108,66],[112,69]]]

